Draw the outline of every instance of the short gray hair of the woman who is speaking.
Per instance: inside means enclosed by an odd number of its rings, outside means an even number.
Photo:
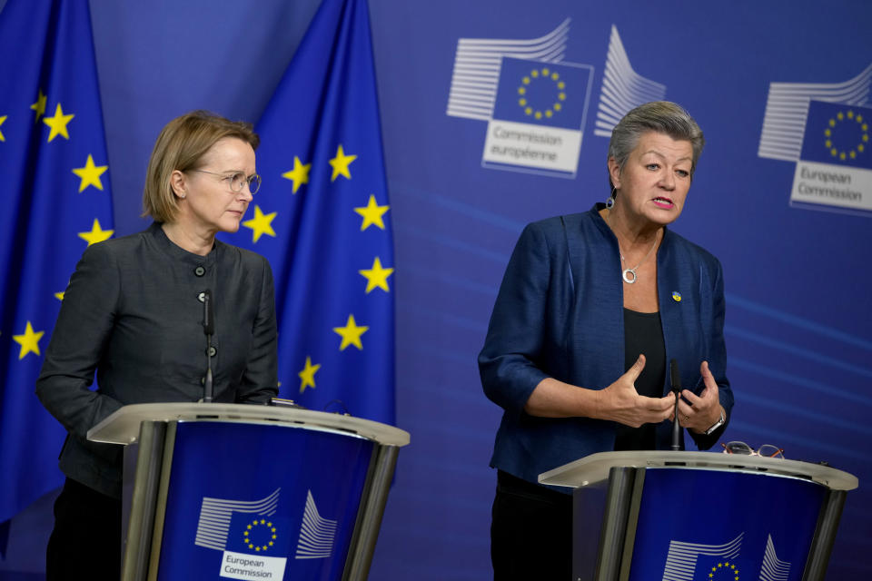
[[[649,132],[664,133],[675,140],[690,142],[693,149],[693,159],[690,164],[690,179],[697,169],[699,154],[706,139],[702,136],[699,125],[690,113],[676,103],[669,101],[652,101],[644,103],[624,115],[611,132],[609,141],[609,157],[615,158],[618,167],[623,170],[629,159],[629,154],[636,149],[639,138]],[[609,189],[613,188],[609,173]]]

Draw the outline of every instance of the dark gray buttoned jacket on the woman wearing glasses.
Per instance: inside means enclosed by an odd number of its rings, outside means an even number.
[[[265,403],[277,393],[278,356],[263,256],[221,241],[198,256],[158,223],[84,251],[36,380],[36,395],[69,432],[60,457],[67,477],[121,497],[121,447],[88,442],[88,429],[127,404],[203,397],[206,289],[215,316],[214,400]]]

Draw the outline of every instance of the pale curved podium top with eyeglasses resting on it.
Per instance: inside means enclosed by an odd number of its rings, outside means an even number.
[[[586,487],[609,478],[611,468],[702,468],[803,478],[833,490],[853,490],[857,477],[819,464],[717,452],[599,452],[539,475],[540,484]]]

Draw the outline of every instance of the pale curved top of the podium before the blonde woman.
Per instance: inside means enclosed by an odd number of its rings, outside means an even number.
[[[133,444],[144,421],[269,422],[297,428],[329,429],[372,439],[385,446],[405,446],[409,432],[369,419],[310,409],[234,403],[141,403],[124,406],[88,430],[88,439],[108,444]]]

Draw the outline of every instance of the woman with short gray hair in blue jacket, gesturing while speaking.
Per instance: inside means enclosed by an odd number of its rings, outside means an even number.
[[[520,235],[479,355],[485,394],[503,409],[490,458],[498,581],[570,578],[571,497],[537,484],[542,472],[597,452],[670,448],[667,361],[687,387],[679,424],[697,448],[727,426],[720,262],[668,229],[704,143],[679,105],[645,103],[612,133],[608,201]]]

